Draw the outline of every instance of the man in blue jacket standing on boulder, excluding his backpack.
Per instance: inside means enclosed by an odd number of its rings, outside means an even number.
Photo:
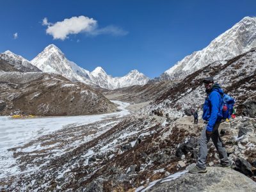
[[[207,97],[204,102],[204,112],[202,118],[205,120],[205,127],[201,133],[199,139],[199,156],[196,162],[196,166],[189,170],[189,173],[206,173],[206,158],[207,158],[207,143],[212,138],[212,141],[218,150],[221,166],[230,167],[230,161],[227,157],[227,152],[221,138],[219,136],[218,127],[220,121],[218,120],[218,112],[221,105],[221,95],[223,90],[220,85],[214,84],[212,77],[206,77],[204,79],[205,92]]]

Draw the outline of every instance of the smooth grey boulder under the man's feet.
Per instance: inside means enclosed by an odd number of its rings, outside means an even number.
[[[207,168],[207,173],[186,173],[175,180],[157,182],[146,191],[255,191],[256,183],[227,168]],[[167,180],[167,179],[166,179]]]

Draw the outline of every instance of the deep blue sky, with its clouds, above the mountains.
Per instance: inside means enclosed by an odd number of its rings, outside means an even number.
[[[70,61],[114,77],[153,78],[246,16],[256,1],[0,0],[0,52],[32,60],[55,44]]]

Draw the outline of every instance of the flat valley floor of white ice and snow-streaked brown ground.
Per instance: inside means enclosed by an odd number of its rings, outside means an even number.
[[[49,159],[86,143],[128,115],[126,102],[113,101],[120,111],[104,115],[0,119],[0,179],[38,170]],[[1,185],[0,185],[1,189]]]

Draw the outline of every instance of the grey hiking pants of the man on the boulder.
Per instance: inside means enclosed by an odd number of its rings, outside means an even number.
[[[205,124],[205,127],[204,127],[202,134],[200,136],[200,139],[199,139],[199,156],[198,156],[198,159],[196,162],[196,165],[199,168],[206,167],[205,164],[206,164],[206,158],[207,158],[207,153],[208,153],[207,143],[209,142],[209,140],[211,138],[212,138],[212,142],[214,143],[216,149],[218,150],[221,164],[229,164],[227,152],[226,152],[225,147],[223,146],[223,143],[219,136],[219,132],[218,132],[219,126],[220,126],[220,122],[216,122],[216,124],[213,127],[212,134],[209,135],[206,133],[207,124]]]

